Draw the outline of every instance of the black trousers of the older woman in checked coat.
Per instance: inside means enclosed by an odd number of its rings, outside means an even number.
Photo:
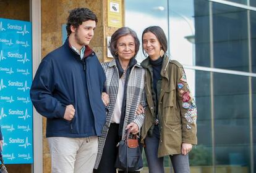
[[[118,135],[119,124],[111,123],[108,135],[106,137],[105,146],[103,148],[103,154],[101,157],[100,165],[98,169],[94,169],[93,173],[116,173],[116,167],[114,167],[114,163],[116,162],[117,156],[117,143],[120,141]],[[118,171],[119,173],[123,173],[124,171]],[[137,173],[128,172],[128,173]]]

